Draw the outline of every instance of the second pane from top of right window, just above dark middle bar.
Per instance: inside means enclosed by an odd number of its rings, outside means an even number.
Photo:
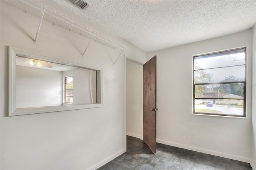
[[[194,71],[194,83],[244,81],[244,77],[244,65]]]

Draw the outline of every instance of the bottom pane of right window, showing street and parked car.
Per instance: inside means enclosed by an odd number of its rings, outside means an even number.
[[[240,99],[195,99],[195,113],[219,115],[244,115],[244,100]]]

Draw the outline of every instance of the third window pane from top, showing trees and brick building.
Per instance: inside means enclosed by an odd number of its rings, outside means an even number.
[[[195,85],[195,98],[244,99],[244,83]]]

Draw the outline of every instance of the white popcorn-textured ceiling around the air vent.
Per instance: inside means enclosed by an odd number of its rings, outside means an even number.
[[[89,0],[85,10],[53,1],[144,51],[240,32],[256,22],[256,0]]]

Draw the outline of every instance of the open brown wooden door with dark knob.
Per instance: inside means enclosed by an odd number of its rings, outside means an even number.
[[[143,65],[143,140],[156,153],[156,56]]]

